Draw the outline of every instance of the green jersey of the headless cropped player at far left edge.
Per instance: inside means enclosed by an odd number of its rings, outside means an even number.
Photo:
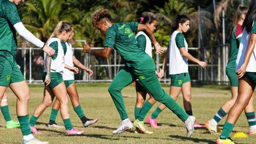
[[[0,50],[16,55],[17,39],[13,25],[21,22],[17,7],[9,0],[0,0]]]

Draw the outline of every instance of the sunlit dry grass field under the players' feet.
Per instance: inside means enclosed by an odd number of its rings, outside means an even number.
[[[35,125],[41,135],[35,135],[39,140],[50,141],[50,143],[215,143],[218,135],[211,135],[209,132],[202,129],[196,129],[193,137],[186,138],[186,130],[183,123],[175,116],[169,109],[165,109],[159,115],[157,121],[161,127],[153,129],[148,127],[149,130],[154,131],[154,134],[135,134],[133,131],[125,131],[121,134],[114,135],[112,131],[115,130],[119,123],[120,118],[107,92],[107,83],[103,84],[78,84],[77,89],[80,96],[81,106],[84,113],[89,118],[99,118],[98,123],[84,128],[80,119],[75,114],[71,103],[69,105],[69,113],[71,122],[77,129],[85,130],[85,134],[78,136],[71,136],[65,134],[65,129],[50,129],[46,127],[49,121],[51,108],[47,108],[44,114],[38,119]],[[169,92],[169,87],[164,87],[166,92]],[[35,107],[41,102],[43,97],[42,85],[30,85],[31,99],[29,101],[29,115],[33,114]],[[15,96],[8,90],[9,106],[12,119],[17,121],[15,114]],[[131,121],[134,121],[134,105],[135,105],[135,90],[133,85],[125,87],[123,90],[124,100],[127,112]],[[202,87],[192,88],[193,97],[193,113],[196,121],[204,124],[205,121],[212,118],[219,107],[224,101],[230,98],[230,90],[228,86],[213,86],[206,85]],[[182,96],[180,95],[178,103],[182,105]],[[151,108],[151,114],[158,103]],[[149,115],[148,114],[148,115]],[[147,116],[148,116],[147,115]],[[219,126],[222,127],[226,118],[223,119]],[[60,114],[57,117],[58,124],[63,125]],[[147,124],[146,124],[147,125]],[[248,123],[244,114],[238,119],[235,132],[249,131]],[[21,143],[20,129],[5,129],[5,121],[3,116],[0,118],[0,143]],[[255,135],[249,135],[248,138],[236,138],[236,143],[256,143]]]

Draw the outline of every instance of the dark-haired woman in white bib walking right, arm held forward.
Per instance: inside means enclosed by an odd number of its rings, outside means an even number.
[[[187,31],[189,30],[189,22],[190,19],[186,15],[177,15],[177,17],[175,17],[172,25],[172,35],[170,38],[169,47],[165,54],[163,68],[159,72],[159,75],[163,77],[167,61],[169,60],[169,75],[171,77],[169,94],[174,100],[177,100],[180,92],[182,92],[183,106],[185,108],[185,111],[188,115],[192,116],[193,112],[191,107],[191,82],[188,72],[188,60],[198,63],[198,65],[202,68],[205,68],[207,66],[207,63],[204,61],[199,61],[188,53],[188,44],[183,33],[187,33]],[[156,117],[165,108],[165,105],[159,105],[153,112],[153,114],[147,119],[150,119],[151,122],[154,122]],[[153,125],[155,123],[150,124]],[[199,126],[201,125],[195,123],[195,127]]]

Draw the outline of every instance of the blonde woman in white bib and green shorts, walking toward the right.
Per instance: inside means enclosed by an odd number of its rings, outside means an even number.
[[[44,73],[43,81],[45,82],[43,101],[39,103],[34,111],[34,114],[30,117],[30,129],[31,132],[40,134],[34,126],[39,116],[42,115],[47,106],[50,106],[50,100],[56,97],[60,102],[60,113],[65,124],[67,134],[82,134],[84,131],[76,130],[71,124],[68,113],[68,98],[65,83],[63,82],[62,75],[64,68],[78,73],[76,67],[65,65],[64,56],[67,51],[66,42],[70,35],[73,34],[72,26],[67,22],[59,22],[54,29],[52,36],[47,41],[47,45],[53,47],[56,53],[53,57],[49,57],[48,54],[44,54]],[[51,101],[52,102],[52,101]]]

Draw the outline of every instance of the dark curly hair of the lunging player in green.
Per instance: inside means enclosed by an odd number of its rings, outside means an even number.
[[[92,26],[97,27],[102,19],[107,19],[112,22],[111,15],[107,9],[98,9],[92,14]]]

